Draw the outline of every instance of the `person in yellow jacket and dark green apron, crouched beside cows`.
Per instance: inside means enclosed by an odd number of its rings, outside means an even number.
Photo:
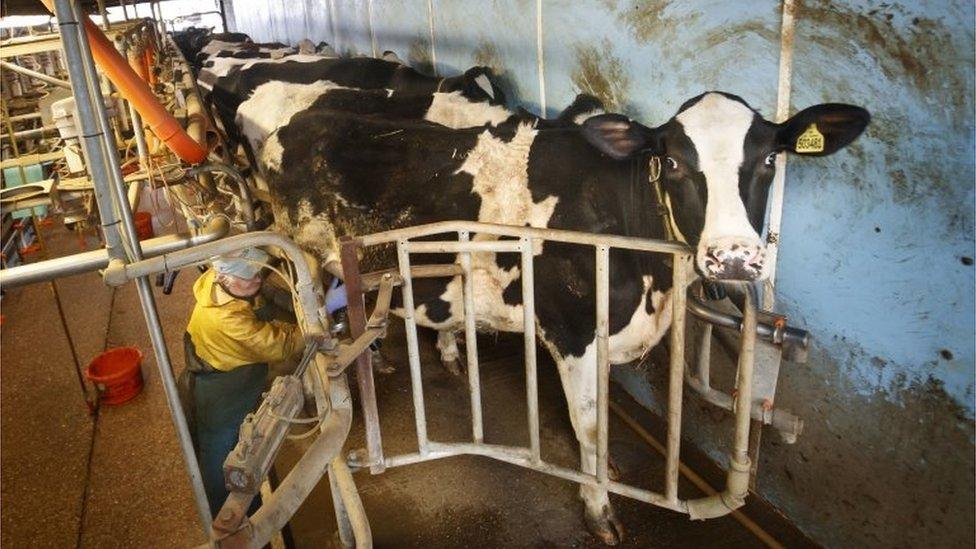
[[[186,369],[180,388],[215,516],[228,495],[224,459],[237,444],[244,417],[257,407],[268,363],[287,360],[305,347],[297,325],[269,320],[270,309],[262,306],[258,292],[267,260],[259,248],[220,256],[193,285],[196,305],[183,337]]]

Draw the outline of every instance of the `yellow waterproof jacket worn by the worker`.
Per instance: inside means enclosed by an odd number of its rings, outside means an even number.
[[[214,280],[213,269],[193,284],[197,304],[186,331],[197,355],[217,370],[280,362],[305,347],[301,330],[287,322],[258,320],[254,305]]]

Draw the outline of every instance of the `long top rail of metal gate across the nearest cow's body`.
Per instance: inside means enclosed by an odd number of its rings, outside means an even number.
[[[375,246],[388,242],[407,240],[421,236],[456,233],[470,231],[472,233],[499,236],[515,236],[519,238],[535,238],[551,242],[565,242],[569,244],[589,244],[591,246],[606,245],[611,248],[625,248],[645,252],[662,252],[668,254],[686,254],[688,246],[680,242],[666,240],[650,240],[632,236],[616,236],[606,234],[592,234],[579,231],[565,231],[560,229],[540,229],[537,227],[518,227],[515,225],[501,225],[498,223],[479,223],[476,221],[441,221],[428,223],[405,229],[394,229],[360,237],[363,246]],[[415,243],[416,244],[416,243]]]

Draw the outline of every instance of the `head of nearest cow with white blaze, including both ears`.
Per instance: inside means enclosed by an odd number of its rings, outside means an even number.
[[[860,107],[827,103],[775,124],[739,97],[710,92],[657,128],[608,114],[587,120],[583,135],[616,159],[658,156],[671,228],[696,249],[699,274],[749,281],[767,275],[760,234],[777,153],[831,154],[856,139],[870,118]]]

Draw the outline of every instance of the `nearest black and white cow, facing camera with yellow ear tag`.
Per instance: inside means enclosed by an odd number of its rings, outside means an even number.
[[[581,126],[515,119],[455,129],[314,103],[244,124],[243,131],[258,138],[255,152],[276,201],[277,225],[325,262],[337,260],[342,235],[453,219],[661,239],[666,232],[648,169],[657,156],[671,229],[696,251],[689,269],[718,281],[765,276],[760,235],[775,155],[831,154],[870,120],[859,107],[822,104],[776,124],[721,92],[689,100],[655,128],[599,114]],[[544,273],[535,289],[539,339],[558,366],[581,467],[592,474],[592,251],[547,242],[535,256],[536,271]],[[672,287],[670,267],[654,254],[614,251],[610,260],[610,360],[622,364],[661,340],[671,323],[672,293],[685,289]],[[473,276],[477,325],[521,331],[513,258],[475,254]],[[458,281],[418,279],[414,292],[418,324],[442,332],[463,326]],[[622,528],[606,491],[582,486],[580,494],[591,530],[606,543],[618,542]]]

